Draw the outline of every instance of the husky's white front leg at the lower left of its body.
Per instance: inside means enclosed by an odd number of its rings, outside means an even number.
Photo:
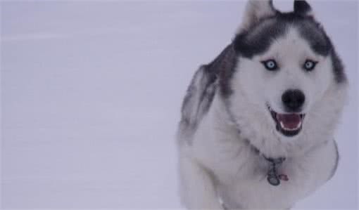
[[[223,209],[210,173],[189,157],[180,158],[180,194],[187,209]]]

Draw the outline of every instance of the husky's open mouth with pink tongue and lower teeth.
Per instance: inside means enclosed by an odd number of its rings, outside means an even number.
[[[284,136],[296,136],[302,129],[303,119],[306,114],[286,113],[279,114],[267,106],[272,118],[275,120],[276,129]]]

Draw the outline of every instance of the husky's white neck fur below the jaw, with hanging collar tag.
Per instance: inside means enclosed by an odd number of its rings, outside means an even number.
[[[267,165],[267,171],[264,173],[267,173],[267,181],[270,185],[279,185],[281,181],[289,180],[286,174],[279,174],[280,170],[277,170],[282,164],[289,164],[286,159],[301,159],[313,147],[322,145],[322,142],[310,142],[310,139],[285,141],[272,138],[273,135],[258,136],[250,127],[251,124],[244,123],[243,126],[237,124],[231,115],[224,111],[224,107],[222,98],[216,95],[208,113],[211,126],[221,133],[219,135],[225,136],[223,140],[238,141],[243,147],[252,150],[253,155]],[[250,132],[246,133],[246,131]]]

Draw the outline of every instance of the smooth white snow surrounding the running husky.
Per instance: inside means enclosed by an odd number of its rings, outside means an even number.
[[[336,135],[339,170],[296,207],[356,209],[358,3],[313,8],[351,93]],[[2,206],[180,208],[182,96],[232,39],[243,9],[244,1],[1,1]]]

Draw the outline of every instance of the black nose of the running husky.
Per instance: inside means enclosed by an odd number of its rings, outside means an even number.
[[[306,100],[306,96],[300,90],[287,90],[282,95],[282,102],[288,111],[298,112]]]

